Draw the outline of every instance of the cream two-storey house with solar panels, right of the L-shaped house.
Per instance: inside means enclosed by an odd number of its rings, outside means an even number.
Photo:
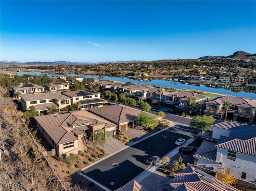
[[[92,90],[66,91],[62,95],[71,98],[71,104],[77,104],[80,109],[89,109],[108,105],[108,101],[100,98],[100,93]]]

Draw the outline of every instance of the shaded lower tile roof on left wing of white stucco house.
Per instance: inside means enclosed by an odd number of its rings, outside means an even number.
[[[194,158],[200,158],[200,159],[204,159],[206,161],[219,163],[218,161],[216,161],[216,156],[217,156],[216,144],[207,142],[207,141],[203,141],[201,146],[198,148],[196,153],[193,155]]]

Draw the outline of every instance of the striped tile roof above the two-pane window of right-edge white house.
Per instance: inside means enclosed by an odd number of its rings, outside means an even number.
[[[216,147],[256,156],[256,137],[248,140],[233,139]]]

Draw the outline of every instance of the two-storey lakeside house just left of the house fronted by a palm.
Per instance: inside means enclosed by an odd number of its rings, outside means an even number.
[[[187,106],[188,97],[194,97],[195,102],[199,102],[201,100],[206,102],[209,100],[208,96],[194,93],[194,92],[174,92],[164,96],[164,101],[163,101],[164,106],[177,108],[181,111],[188,112],[188,106]]]

